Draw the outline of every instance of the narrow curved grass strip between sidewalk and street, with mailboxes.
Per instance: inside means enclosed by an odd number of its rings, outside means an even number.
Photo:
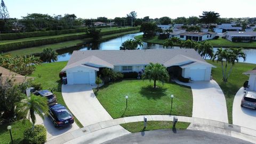
[[[143,122],[125,123],[121,124],[124,129],[131,133],[150,131],[150,130],[161,130],[161,129],[172,129],[173,122],[170,121],[148,121],[146,129],[144,128]],[[190,123],[178,122],[175,126],[176,129],[182,130],[187,129]]]

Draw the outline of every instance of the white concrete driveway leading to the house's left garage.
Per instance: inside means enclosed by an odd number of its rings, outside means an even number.
[[[113,119],[95,97],[91,85],[62,85],[62,97],[83,126]]]

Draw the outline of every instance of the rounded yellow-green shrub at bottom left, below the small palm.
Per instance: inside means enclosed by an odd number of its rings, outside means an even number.
[[[35,125],[34,130],[29,128],[23,135],[23,143],[43,144],[46,141],[46,129],[43,125]]]

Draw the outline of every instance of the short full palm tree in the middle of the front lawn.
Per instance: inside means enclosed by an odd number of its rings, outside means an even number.
[[[145,68],[145,73],[142,75],[142,79],[149,79],[154,81],[154,89],[156,88],[156,81],[161,81],[162,84],[169,80],[169,74],[166,67],[159,63],[149,63]]]

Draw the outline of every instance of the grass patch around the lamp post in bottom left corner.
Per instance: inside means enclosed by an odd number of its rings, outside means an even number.
[[[25,123],[22,123],[22,121],[15,121],[11,124],[2,124],[0,125],[0,143],[11,143],[11,137],[10,132],[7,130],[7,126],[12,126],[12,138],[13,143],[22,143],[23,141],[23,132],[27,129],[32,127],[32,124],[26,120]]]

